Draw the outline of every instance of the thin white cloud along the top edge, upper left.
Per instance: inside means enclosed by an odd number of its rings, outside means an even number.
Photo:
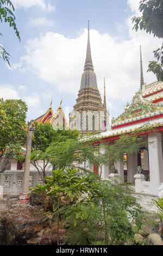
[[[40,7],[43,11],[47,11],[50,13],[51,11],[54,11],[54,6],[51,5],[51,3],[46,3],[45,0],[12,0],[12,4],[15,8],[24,8],[28,9],[30,7]]]

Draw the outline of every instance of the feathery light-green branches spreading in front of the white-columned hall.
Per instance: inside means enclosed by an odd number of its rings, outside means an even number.
[[[81,172],[90,172],[95,164],[101,178],[103,166],[109,167],[111,162],[123,160],[124,153],[128,155],[139,153],[142,145],[148,144],[139,137],[139,133],[147,130],[151,130],[151,127],[143,127],[134,133],[123,135],[107,146],[96,136],[88,137],[87,140],[67,139],[60,143],[52,143],[42,157],[48,157],[54,170],[78,168]],[[93,142],[97,141],[99,146],[94,147]]]

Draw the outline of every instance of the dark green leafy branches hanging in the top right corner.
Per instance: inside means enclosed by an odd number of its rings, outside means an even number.
[[[133,17],[133,23],[135,23],[133,29],[136,31],[139,28],[144,29],[147,33],[163,38],[163,1],[141,0],[139,10],[142,16]],[[163,81],[163,45],[153,53],[158,61],[149,62],[148,71],[152,71],[158,81]]]

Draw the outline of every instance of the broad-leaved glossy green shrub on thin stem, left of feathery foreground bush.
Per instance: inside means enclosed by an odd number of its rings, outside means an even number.
[[[78,170],[66,169],[64,172],[62,169],[53,171],[53,175],[46,177],[47,184],[44,186],[36,185],[36,188],[32,188],[30,193],[45,192],[46,196],[51,196],[54,200],[53,212],[47,212],[48,215],[52,215],[57,218],[57,245],[59,245],[59,223],[61,221],[61,214],[67,209],[67,204],[73,204],[73,201],[80,198],[81,193],[86,193],[87,188],[84,184],[85,179],[77,176]],[[85,219],[85,212],[78,212],[78,217]],[[46,219],[45,219],[46,220]],[[74,219],[75,224],[75,219]]]

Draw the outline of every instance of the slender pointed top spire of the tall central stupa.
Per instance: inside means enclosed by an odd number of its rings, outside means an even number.
[[[92,56],[91,56],[91,45],[90,45],[90,21],[88,20],[88,28],[87,28],[87,48],[86,48],[86,59],[84,65],[85,70],[93,70]]]

